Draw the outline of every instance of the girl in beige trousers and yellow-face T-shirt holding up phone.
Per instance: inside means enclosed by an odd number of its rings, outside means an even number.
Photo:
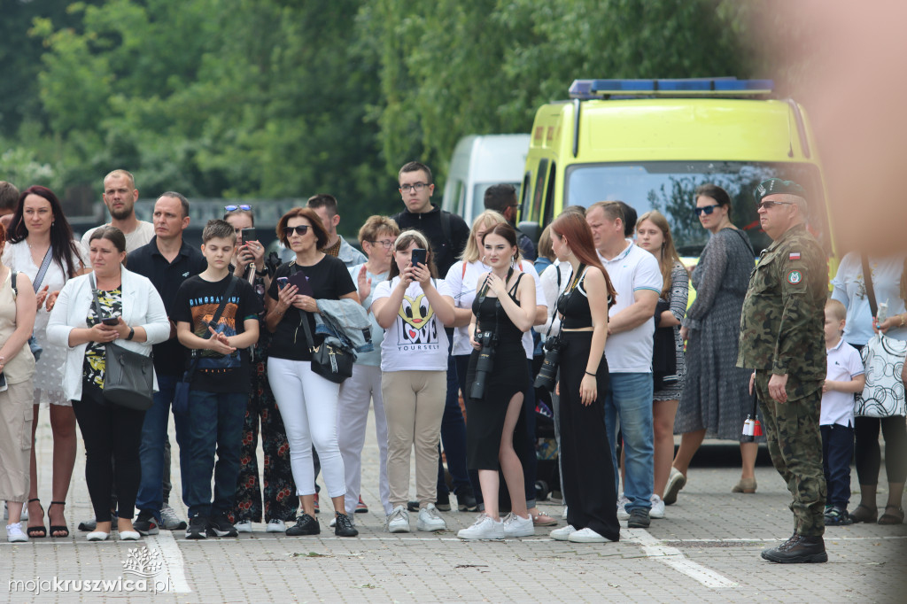
[[[390,280],[375,287],[372,312],[385,329],[381,343],[381,395],[387,416],[387,481],[393,511],[387,530],[409,532],[406,503],[409,457],[415,448],[415,495],[419,531],[444,531],[437,498],[438,441],[447,395],[447,334],[453,297],[437,278],[434,253],[417,230],[394,244]]]

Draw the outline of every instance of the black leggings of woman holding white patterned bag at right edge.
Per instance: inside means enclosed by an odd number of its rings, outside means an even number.
[[[893,417],[857,417],[853,423],[856,475],[860,484],[879,482],[882,452],[879,427],[885,438],[885,473],[888,482],[898,484],[907,478],[907,424],[903,415]]]

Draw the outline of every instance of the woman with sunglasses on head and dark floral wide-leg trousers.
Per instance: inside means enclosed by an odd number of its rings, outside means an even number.
[[[258,240],[246,240],[245,237],[251,233],[249,229],[255,228],[252,207],[246,204],[229,205],[224,206],[224,210],[224,220],[236,229],[236,248],[231,260],[233,272],[241,278],[248,278],[249,266],[254,267],[252,286],[264,306],[271,284],[269,269],[264,261],[265,248]],[[242,428],[236,509],[233,510],[232,520],[239,532],[251,532],[252,522],[262,519],[267,523],[266,531],[284,532],[287,531],[286,521],[296,519],[296,484],[290,469],[287,431],[268,383],[271,334],[263,325],[258,334],[258,343],[249,348],[252,387]],[[261,434],[261,449],[265,457],[263,482],[259,481],[258,474],[258,434]]]

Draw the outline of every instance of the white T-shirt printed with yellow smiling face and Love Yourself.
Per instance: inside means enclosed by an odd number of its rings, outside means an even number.
[[[382,281],[372,294],[372,305],[391,292],[400,282],[397,276]],[[443,279],[434,280],[442,296],[452,297]],[[373,309],[369,309],[374,312]],[[444,324],[428,304],[422,286],[413,282],[406,287],[403,305],[397,309],[394,323],[385,329],[381,343],[381,371],[447,371],[447,334]]]

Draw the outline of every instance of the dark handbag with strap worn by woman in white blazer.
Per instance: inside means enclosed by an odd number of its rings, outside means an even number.
[[[103,317],[94,275],[89,277],[94,297],[94,312]],[[154,403],[154,363],[144,356],[116,344],[104,346],[104,400],[136,411],[148,411]]]

